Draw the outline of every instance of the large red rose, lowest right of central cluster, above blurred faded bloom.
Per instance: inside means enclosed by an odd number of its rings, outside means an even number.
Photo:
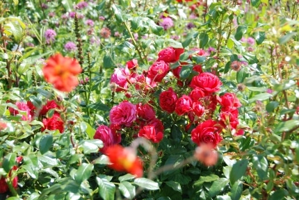
[[[202,124],[199,124],[191,131],[191,139],[198,146],[200,144],[212,144],[213,148],[221,142],[222,138],[220,136],[221,128],[217,127],[217,122],[209,119]]]

